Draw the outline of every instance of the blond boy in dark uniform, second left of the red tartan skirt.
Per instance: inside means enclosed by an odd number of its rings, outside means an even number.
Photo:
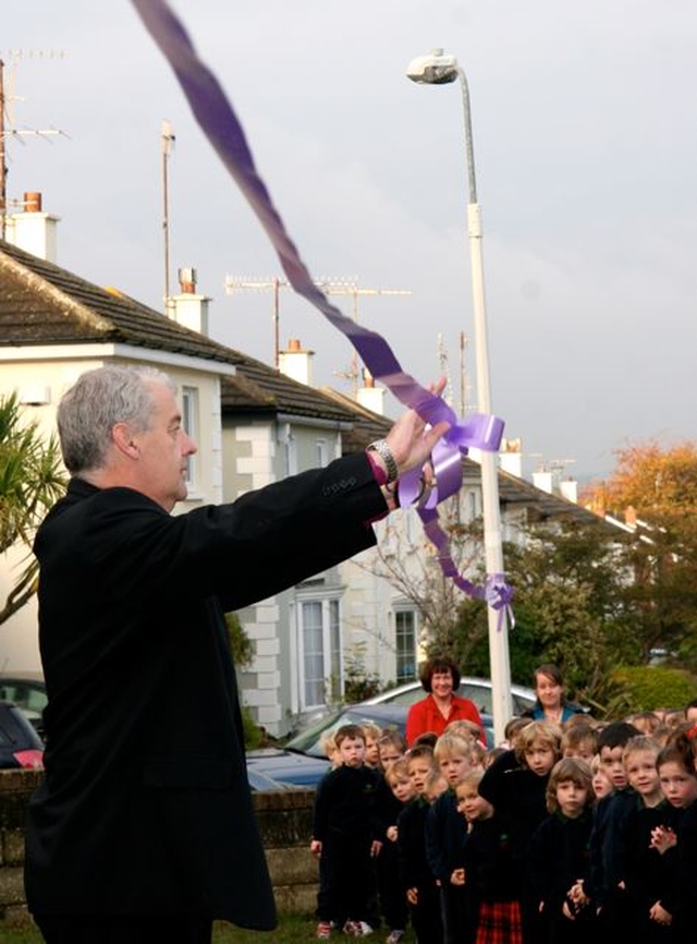
[[[426,818],[426,856],[440,889],[445,944],[464,944],[467,931],[464,888],[452,882],[452,875],[462,868],[466,835],[465,821],[457,812],[455,787],[473,767],[473,745],[472,738],[462,738],[447,729],[433,748],[448,788],[431,803]]]

